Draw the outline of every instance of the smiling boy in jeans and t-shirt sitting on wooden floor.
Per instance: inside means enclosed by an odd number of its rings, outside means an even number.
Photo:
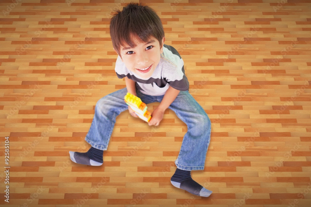
[[[91,148],[85,153],[70,151],[70,159],[79,164],[103,164],[103,151],[107,150],[116,116],[128,109],[137,117],[124,102],[124,96],[130,92],[146,104],[160,102],[152,112],[149,126],[158,126],[167,108],[187,124],[188,132],[183,137],[171,183],[194,195],[210,196],[212,191],[195,182],[190,173],[204,169],[211,122],[188,92],[189,83],[179,53],[164,44],[160,17],[150,7],[130,3],[111,18],[110,36],[118,53],[115,71],[118,78],[125,78],[126,88],[96,103],[94,119],[85,138]]]

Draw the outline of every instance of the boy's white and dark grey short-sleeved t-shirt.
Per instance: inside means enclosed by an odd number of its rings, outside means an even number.
[[[117,58],[114,70],[118,78],[128,77],[135,81],[137,89],[146,95],[164,95],[169,86],[180,91],[189,90],[189,82],[183,68],[183,59],[177,50],[169,45],[163,45],[160,62],[148,79],[143,79],[128,70],[120,56]]]

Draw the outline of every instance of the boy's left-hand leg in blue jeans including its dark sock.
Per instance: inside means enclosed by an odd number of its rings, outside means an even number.
[[[127,89],[123,88],[101,98],[95,106],[95,114],[86,142],[92,147],[85,153],[70,151],[70,159],[79,164],[103,164],[103,151],[107,150],[108,143],[114,128],[116,117],[128,109],[124,102]]]

